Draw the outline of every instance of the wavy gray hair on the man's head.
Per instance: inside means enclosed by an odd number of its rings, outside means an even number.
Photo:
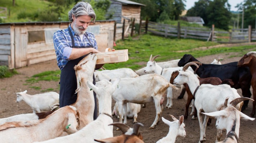
[[[74,7],[68,12],[69,21],[73,22],[72,15],[76,18],[80,15],[88,15],[93,18],[93,22],[95,22],[96,14],[92,9],[92,6],[89,3],[78,2]]]

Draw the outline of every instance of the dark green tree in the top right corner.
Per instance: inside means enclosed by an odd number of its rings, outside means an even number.
[[[244,0],[244,3],[238,4],[236,7],[242,13],[244,6],[244,26],[243,28],[248,28],[248,25],[251,25],[252,28],[255,28],[255,17],[256,17],[256,0]],[[242,16],[240,16],[242,19]],[[241,25],[241,21],[240,24]],[[241,28],[241,27],[240,27]]]

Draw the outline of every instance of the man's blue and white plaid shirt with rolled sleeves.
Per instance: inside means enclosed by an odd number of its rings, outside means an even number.
[[[70,24],[71,25],[71,24]],[[75,34],[75,32],[72,30],[71,26],[69,25],[73,37],[74,37],[74,46],[88,46],[91,44],[93,45],[94,49],[98,49],[97,42],[95,40],[95,36],[92,33],[89,33],[86,31],[86,33],[83,35],[83,41],[80,40],[79,35]],[[88,39],[86,38],[88,37]],[[64,66],[68,63],[69,61],[69,56],[72,52],[72,40],[68,32],[68,28],[64,30],[58,30],[54,33],[53,35],[53,43],[54,43],[54,49],[55,53],[57,56],[57,64],[62,70]]]

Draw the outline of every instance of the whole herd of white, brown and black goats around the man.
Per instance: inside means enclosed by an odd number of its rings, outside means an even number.
[[[186,137],[184,119],[192,102],[192,118],[200,125],[199,143],[206,140],[205,130],[210,118],[216,118],[217,138],[220,142],[222,130],[227,134],[220,143],[237,143],[240,119],[254,120],[256,105],[256,51],[245,54],[238,62],[202,64],[192,55],[181,59],[156,63],[150,56],[145,68],[133,71],[129,68],[95,71],[97,56],[89,54],[76,66],[77,101],[58,108],[59,94],[48,92],[29,95],[27,90],[17,94],[16,102],[24,100],[33,113],[19,114],[0,119],[0,138],[3,143],[143,143],[139,132],[143,124],[137,122],[141,104],[154,102],[156,117],[150,129],[155,128],[163,108],[167,90],[166,108],[171,108],[173,89],[181,90],[178,98],[187,92],[188,99],[184,116],[173,122],[162,117],[169,125],[169,133],[157,143],[174,143],[177,136]],[[216,63],[216,64],[214,64]],[[93,74],[96,85],[93,85]],[[250,87],[253,89],[251,99]],[[236,89],[242,89],[241,97]],[[93,120],[95,102],[93,91],[99,102],[99,116]],[[112,98],[115,106],[112,111]],[[249,100],[253,101],[251,117],[243,114]],[[57,105],[57,107],[55,107]],[[55,108],[54,108],[55,107]],[[203,120],[202,115],[205,115]],[[119,117],[113,123],[112,115]],[[134,118],[130,128],[127,116]],[[124,122],[123,122],[124,119]],[[113,137],[113,126],[123,132]]]

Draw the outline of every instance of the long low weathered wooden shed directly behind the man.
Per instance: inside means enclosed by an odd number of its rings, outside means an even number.
[[[1,23],[0,65],[13,69],[56,59],[53,34],[69,24],[69,21]],[[95,35],[100,51],[113,48],[114,25],[114,20],[104,20],[88,27],[87,31]]]

